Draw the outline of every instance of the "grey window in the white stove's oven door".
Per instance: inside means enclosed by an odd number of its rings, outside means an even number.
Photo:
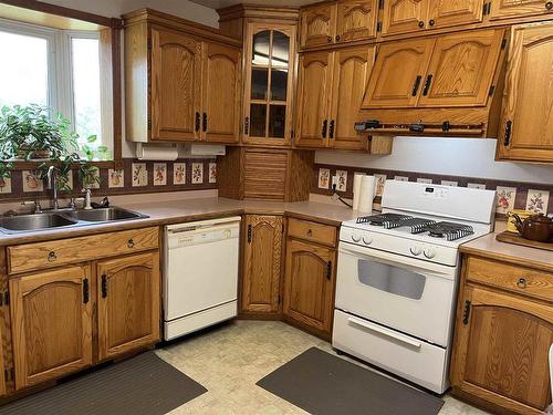
[[[359,282],[364,286],[413,300],[422,297],[426,277],[421,273],[363,259],[358,260],[357,269]]]

